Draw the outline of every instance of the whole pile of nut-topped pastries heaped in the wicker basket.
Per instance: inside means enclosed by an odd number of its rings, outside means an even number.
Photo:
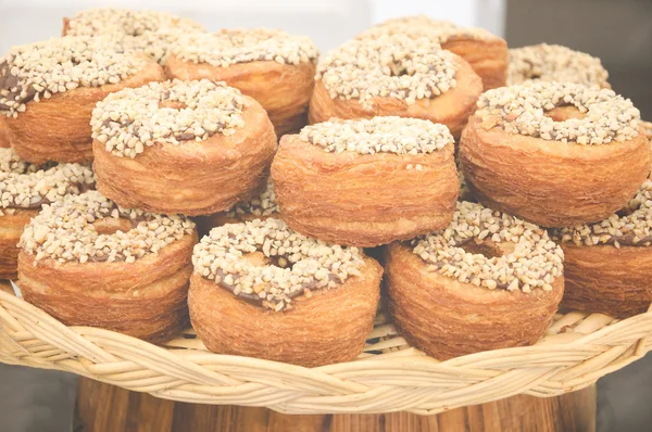
[[[66,325],[315,367],[380,305],[447,359],[652,302],[651,128],[599,59],[425,16],[321,59],[158,12],[63,35],[0,59],[0,279]]]

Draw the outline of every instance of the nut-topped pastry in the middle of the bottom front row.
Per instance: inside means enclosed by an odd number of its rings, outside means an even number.
[[[281,220],[215,228],[192,263],[190,320],[214,353],[330,365],[354,359],[374,326],[380,265]]]

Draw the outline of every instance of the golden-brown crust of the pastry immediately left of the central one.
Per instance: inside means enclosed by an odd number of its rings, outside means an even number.
[[[244,127],[231,136],[156,143],[135,158],[116,156],[93,141],[97,189],[123,207],[190,216],[222,212],[253,196],[267,180],[276,136],[262,106],[246,99]]]

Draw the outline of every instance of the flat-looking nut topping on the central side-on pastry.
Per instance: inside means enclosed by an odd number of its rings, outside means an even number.
[[[324,122],[304,127],[299,137],[329,153],[432,153],[454,143],[444,125],[393,116]]]

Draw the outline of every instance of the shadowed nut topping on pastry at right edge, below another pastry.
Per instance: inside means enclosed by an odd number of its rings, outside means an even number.
[[[617,214],[597,224],[552,229],[550,233],[556,241],[573,242],[578,246],[649,246],[652,244],[652,180],[645,180]]]

